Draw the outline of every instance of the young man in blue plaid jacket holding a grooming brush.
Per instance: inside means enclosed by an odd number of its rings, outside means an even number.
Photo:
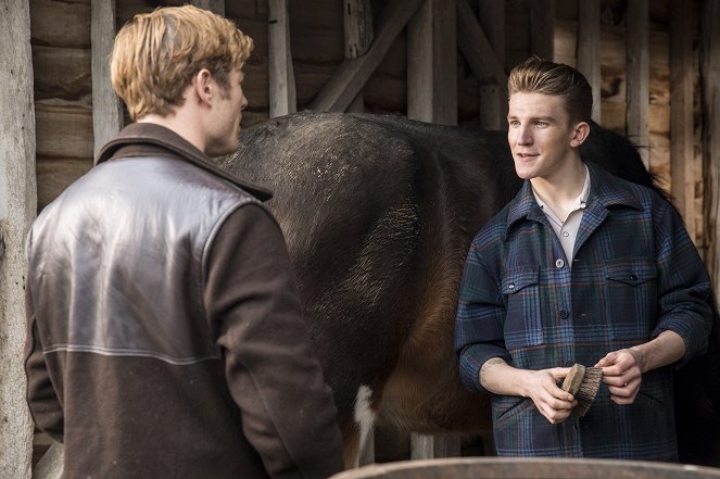
[[[672,370],[707,346],[710,281],[682,219],[650,189],[580,156],[592,91],[531,58],[508,78],[517,197],[472,241],[455,346],[492,394],[503,456],[678,461]],[[584,417],[558,381],[603,370]]]

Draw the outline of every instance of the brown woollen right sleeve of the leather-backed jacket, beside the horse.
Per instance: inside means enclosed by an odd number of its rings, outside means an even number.
[[[313,352],[282,232],[261,205],[239,207],[210,250],[205,305],[224,350],[243,432],[274,478],[342,470],[337,409]]]

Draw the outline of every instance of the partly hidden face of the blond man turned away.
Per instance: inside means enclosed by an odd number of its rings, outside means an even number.
[[[233,68],[229,75],[227,89],[217,85],[220,94],[213,102],[212,124],[205,147],[205,153],[210,156],[229,154],[238,149],[242,110],[248,105],[242,92],[243,78],[242,71]]]

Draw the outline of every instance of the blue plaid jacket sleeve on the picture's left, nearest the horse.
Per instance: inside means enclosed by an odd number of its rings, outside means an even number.
[[[479,376],[485,361],[502,357],[511,364],[504,341],[505,313],[497,280],[482,264],[473,242],[465,262],[455,317],[460,379],[470,391],[485,392]]]

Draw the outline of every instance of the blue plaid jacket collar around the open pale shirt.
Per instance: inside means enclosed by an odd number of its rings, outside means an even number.
[[[640,200],[631,188],[627,187],[628,181],[617,176],[610,175],[602,167],[591,161],[583,161],[588,167],[585,176],[585,186],[583,192],[578,197],[579,201],[585,199],[586,205],[596,204],[608,209],[611,206],[626,206],[634,210],[642,210]],[[585,188],[588,191],[585,192]],[[513,225],[522,219],[533,219],[540,222],[544,213],[538,205],[535,196],[532,192],[532,185],[529,179],[522,184],[522,188],[510,201],[507,213],[507,231]]]

